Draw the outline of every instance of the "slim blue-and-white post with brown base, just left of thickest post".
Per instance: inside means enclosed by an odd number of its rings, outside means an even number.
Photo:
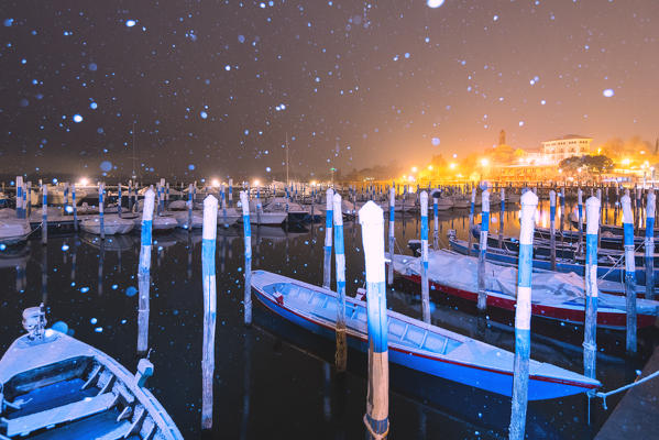
[[[334,363],[338,372],[344,372],[348,362],[348,342],[345,341],[345,250],[343,244],[343,212],[341,196],[333,197],[334,219],[334,260],[337,262],[337,353]]]

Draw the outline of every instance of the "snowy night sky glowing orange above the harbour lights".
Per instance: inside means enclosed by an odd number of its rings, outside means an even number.
[[[439,1],[436,1],[439,3]],[[2,173],[272,178],[659,134],[659,1],[3,1]],[[153,168],[153,170],[151,169]],[[186,175],[187,173],[187,175]]]

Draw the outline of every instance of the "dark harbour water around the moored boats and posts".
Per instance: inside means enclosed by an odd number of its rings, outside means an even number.
[[[516,209],[504,217],[506,233],[518,233]],[[493,211],[491,231],[497,233],[498,212]],[[545,212],[548,215],[546,206],[540,224],[547,217]],[[441,215],[441,242],[446,244],[449,229],[455,229],[459,238],[466,237],[465,213]],[[413,215],[396,220],[397,244],[409,253],[405,243],[419,237],[420,226]],[[253,228],[252,234],[253,268],[322,284],[321,224],[289,231]],[[337,375],[332,341],[283,321],[256,301],[253,326],[243,324],[243,243],[237,227],[218,230],[213,418],[212,430],[202,432],[201,237],[177,231],[156,234],[154,240],[149,346],[155,374],[149,385],[186,439],[364,438],[364,355],[351,351],[349,372]],[[138,295],[133,288],[138,287],[139,246],[136,234],[109,239],[102,248],[95,237],[79,234],[52,237],[46,248],[32,240],[22,249],[2,252],[2,351],[22,331],[21,311],[43,300],[51,324],[66,322],[76,338],[134,371],[139,355]],[[345,224],[345,249],[348,293],[354,295],[364,283],[359,224]],[[420,319],[419,287],[396,282],[387,306]],[[487,319],[477,318],[475,305],[448,297],[433,297],[431,309],[438,326],[514,350],[510,314],[492,311]],[[534,359],[582,371],[582,328],[536,320],[531,328]],[[656,340],[653,329],[640,332],[640,355],[628,360],[624,356],[624,334],[601,331],[597,378],[604,388],[634,380],[635,370],[642,366]],[[392,438],[507,437],[509,398],[396,365],[391,366],[391,388]],[[609,410],[604,411],[600,400],[593,400],[590,426],[584,395],[530,403],[527,435],[542,439],[592,438],[617,402],[612,397]]]

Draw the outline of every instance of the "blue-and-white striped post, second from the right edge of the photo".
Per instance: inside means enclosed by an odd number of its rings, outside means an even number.
[[[623,230],[625,233],[625,296],[627,298],[627,353],[636,353],[636,263],[634,261],[634,213],[631,199],[623,196]],[[647,282],[647,280],[646,280]]]

